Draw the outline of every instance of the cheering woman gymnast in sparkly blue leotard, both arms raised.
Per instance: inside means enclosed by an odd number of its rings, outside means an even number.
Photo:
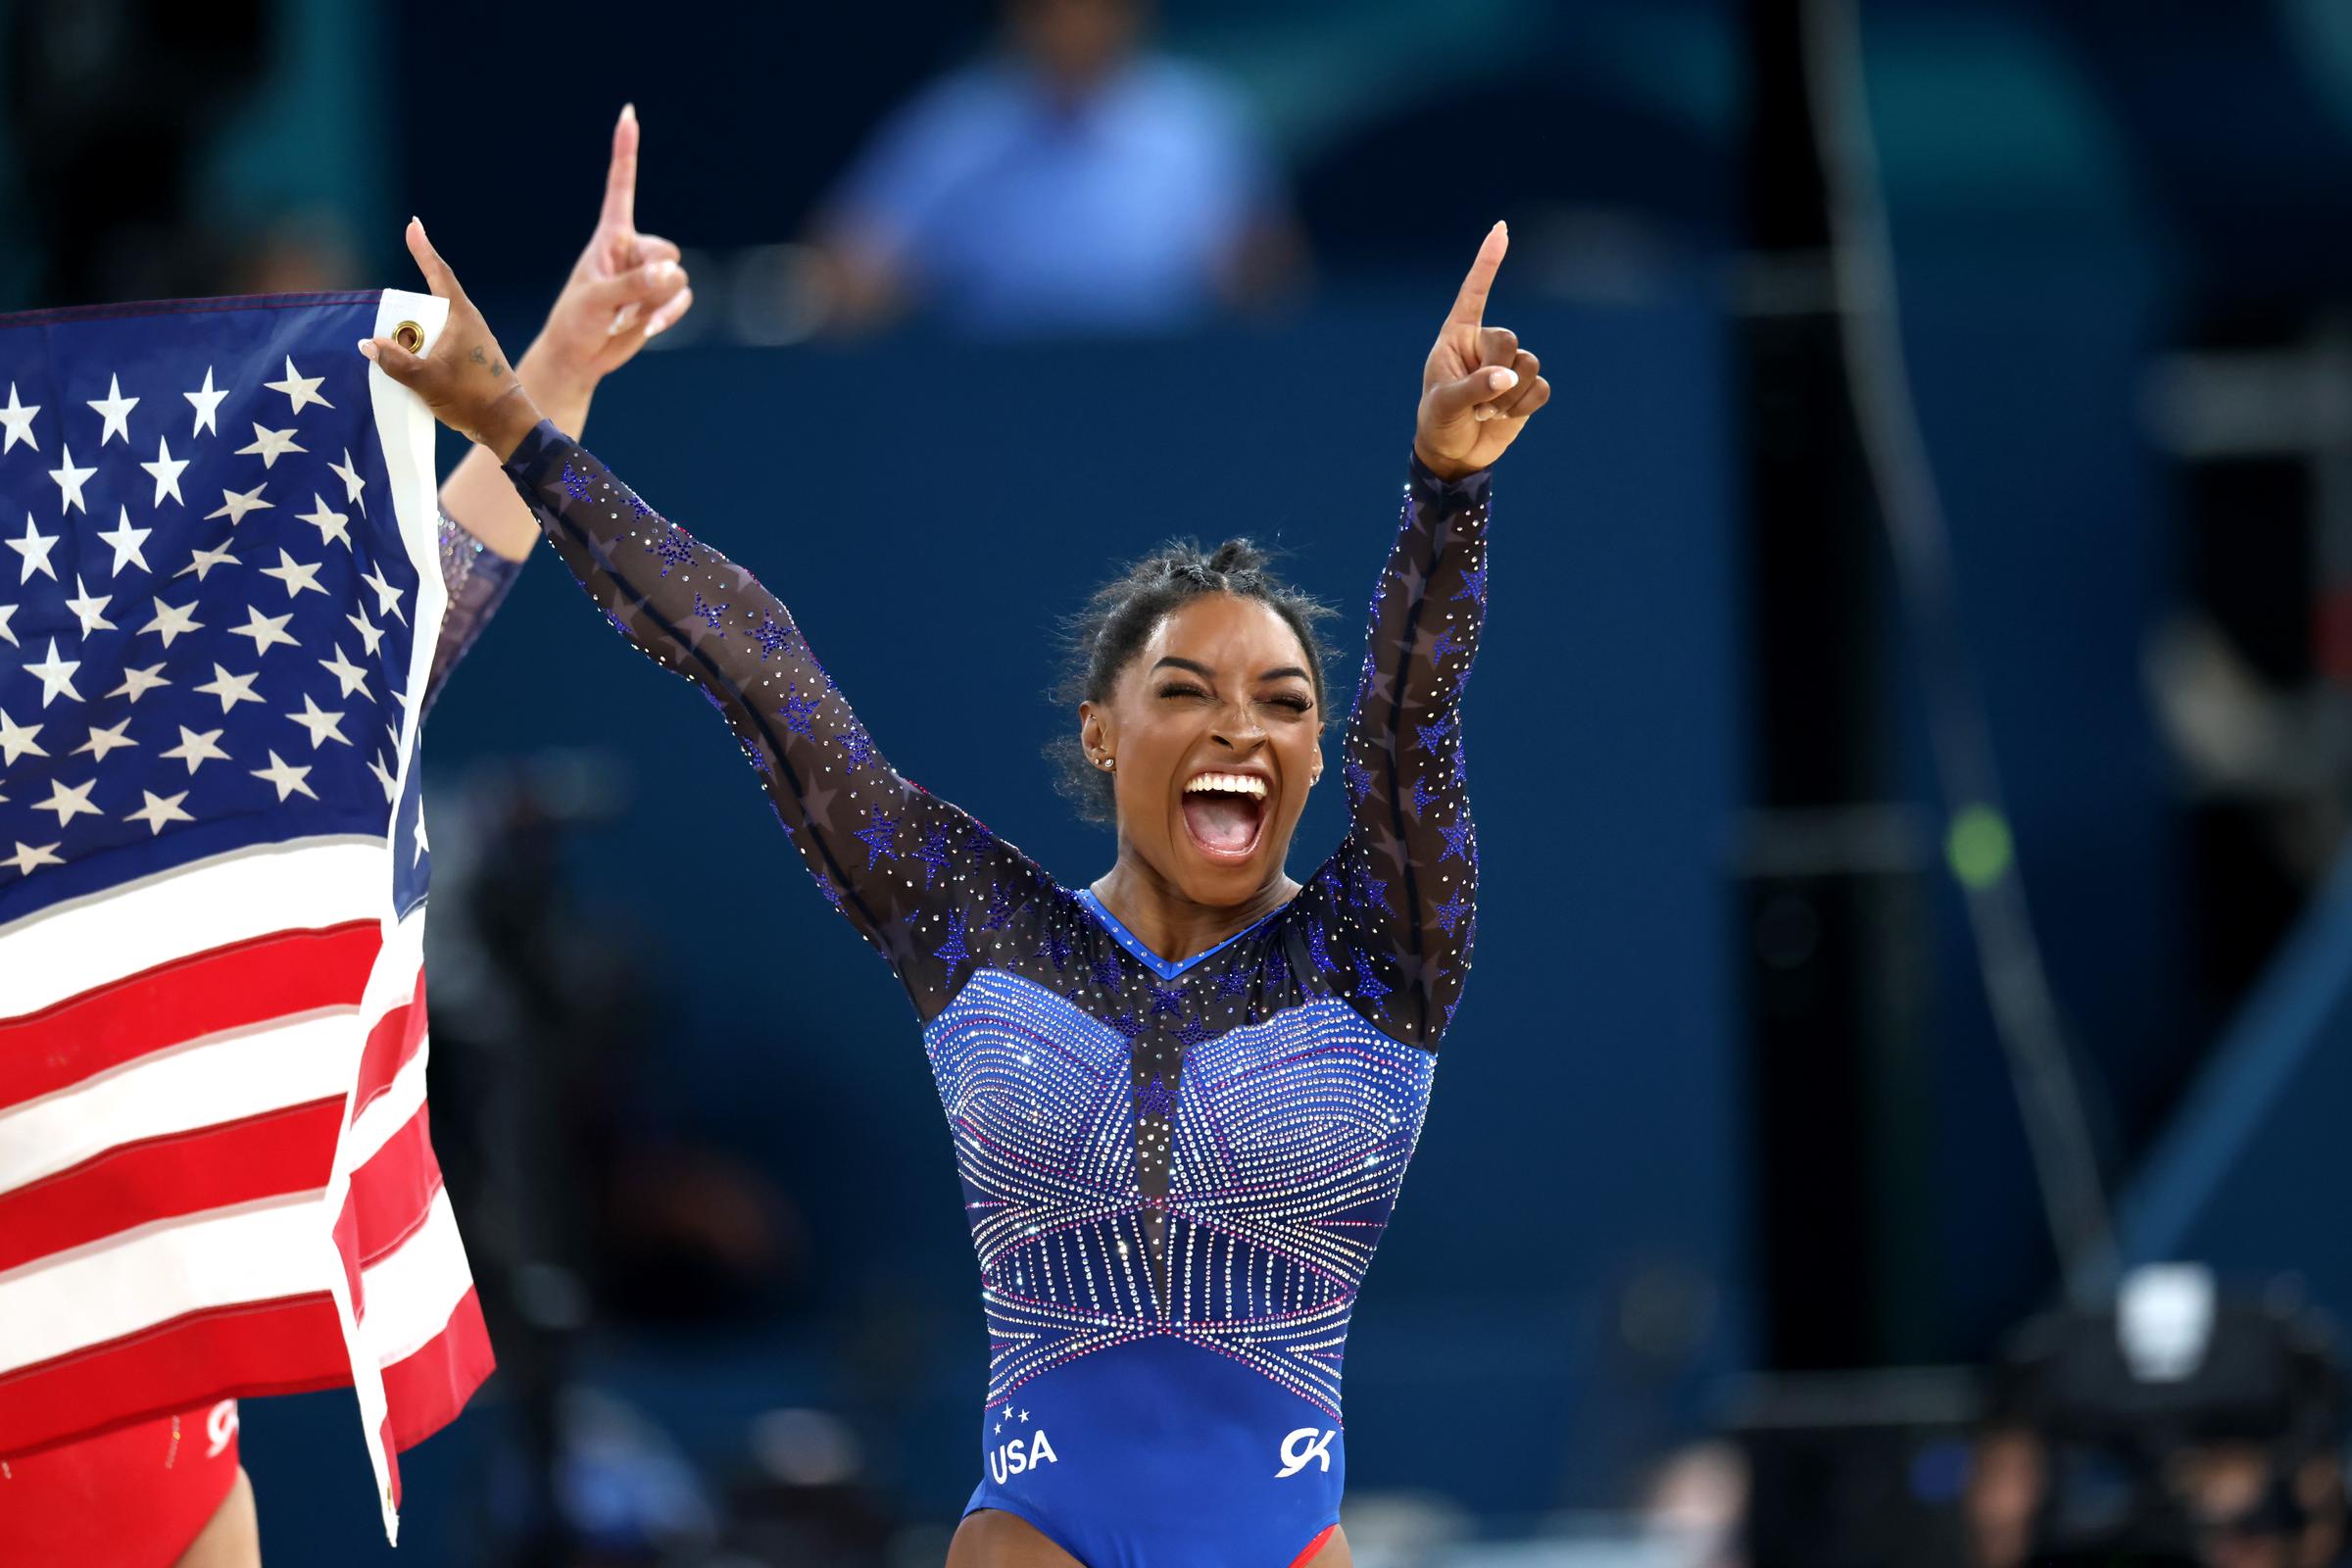
[[[543,418],[409,223],[449,324],[360,343],[494,451],[612,623],[696,682],[818,891],[922,1018],[981,1262],[983,1481],[950,1568],[1343,1568],[1341,1352],[1477,931],[1461,691],[1489,468],[1543,407],[1479,247],[1421,376],[1341,750],[1348,837],[1284,853],[1322,776],[1317,607],[1247,541],[1096,595],[1080,769],[1117,860],[1063,889],[901,778],[786,607]]]

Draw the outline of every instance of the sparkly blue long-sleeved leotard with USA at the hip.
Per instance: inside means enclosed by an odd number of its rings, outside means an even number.
[[[612,623],[727,715],[922,1016],[988,1314],[971,1507],[1087,1568],[1294,1563],[1338,1521],[1348,1314],[1477,931],[1461,689],[1486,475],[1414,463],[1348,837],[1291,903],[1167,961],[891,771],[746,569],[553,425],[508,468]]]

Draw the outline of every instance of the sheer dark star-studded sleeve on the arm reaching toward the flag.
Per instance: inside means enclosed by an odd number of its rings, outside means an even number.
[[[889,959],[924,1020],[948,1006],[990,940],[981,931],[1049,903],[1047,877],[891,771],[750,571],[663,520],[553,423],[506,468],[614,630],[727,717],[826,900]]]

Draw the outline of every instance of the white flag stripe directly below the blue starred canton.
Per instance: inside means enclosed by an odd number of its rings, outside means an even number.
[[[270,931],[383,919],[393,882],[381,839],[294,839],[240,849],[0,926],[0,1018]],[[414,971],[409,973],[414,980]]]

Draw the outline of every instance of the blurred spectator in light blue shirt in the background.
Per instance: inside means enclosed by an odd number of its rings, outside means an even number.
[[[1232,92],[1145,0],[1007,0],[1002,49],[901,108],[818,221],[830,324],[1164,331],[1275,294],[1301,244]]]

